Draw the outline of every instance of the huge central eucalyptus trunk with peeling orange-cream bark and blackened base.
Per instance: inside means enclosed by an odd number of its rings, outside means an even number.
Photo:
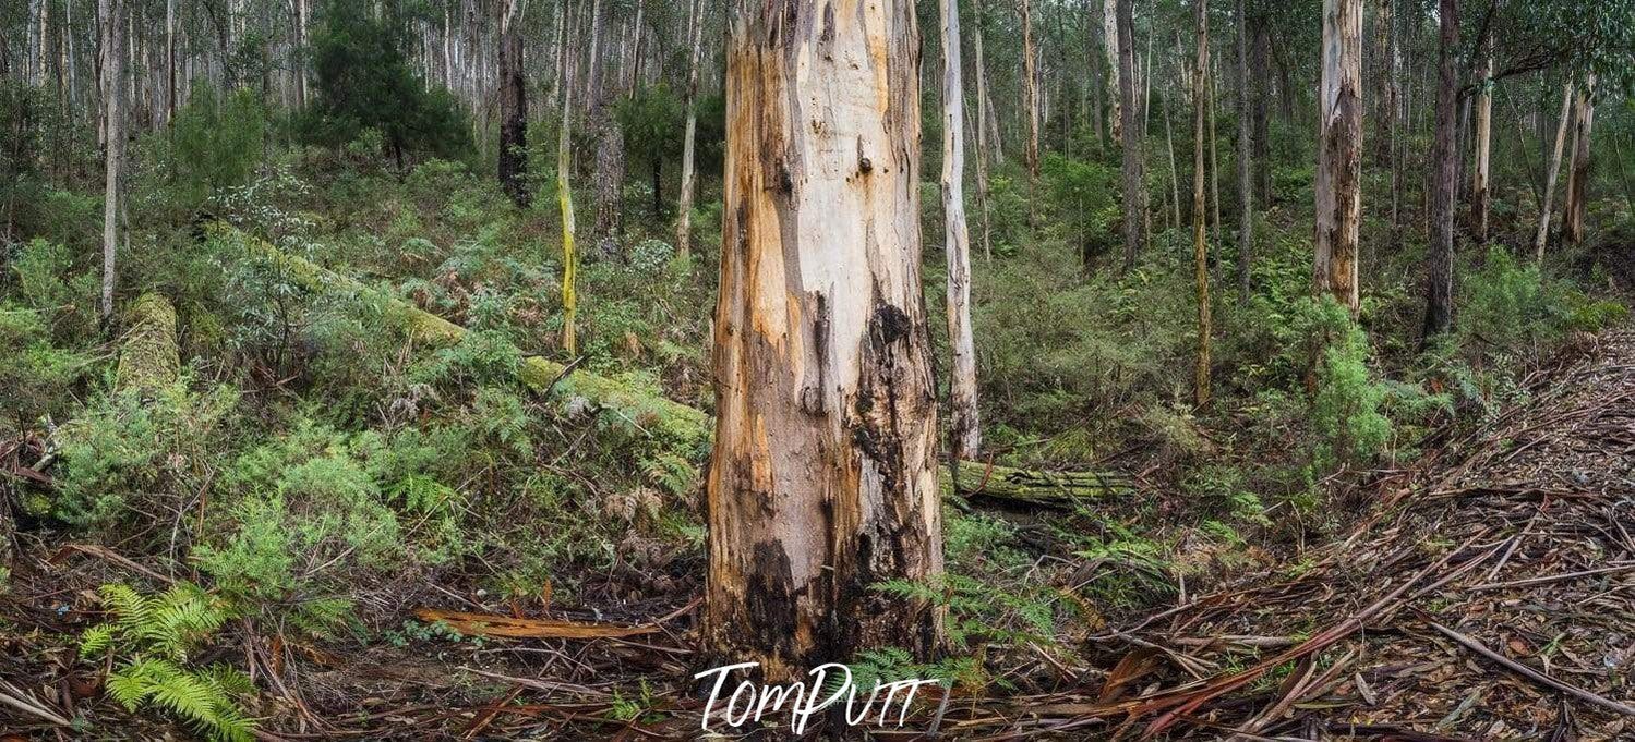
[[[768,680],[942,647],[914,3],[739,0],[726,74],[703,641]]]

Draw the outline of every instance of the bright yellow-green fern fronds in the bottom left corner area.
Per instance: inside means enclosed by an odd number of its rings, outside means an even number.
[[[121,583],[98,593],[110,619],[80,636],[80,657],[113,654],[110,696],[131,713],[168,713],[213,740],[253,739],[255,724],[239,706],[255,695],[249,675],[188,660],[234,616],[229,605],[186,582],[159,595]]]

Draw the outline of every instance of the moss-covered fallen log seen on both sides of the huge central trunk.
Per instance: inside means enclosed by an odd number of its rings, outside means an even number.
[[[227,224],[211,227],[217,239],[232,240],[255,258],[275,265],[294,284],[314,294],[345,293],[376,302],[387,319],[402,327],[412,338],[433,348],[459,343],[469,330],[414,304],[370,288],[361,281],[335,273],[311,260],[289,255],[271,244],[247,235]],[[577,361],[576,361],[577,363]],[[603,409],[615,410],[649,435],[674,441],[687,451],[703,456],[713,436],[711,417],[680,402],[674,402],[641,389],[631,389],[615,379],[574,368],[576,363],[558,363],[541,356],[522,360],[518,378],[530,389],[553,399],[587,399]],[[943,497],[953,492],[948,469],[942,469]],[[1135,490],[1130,477],[1095,471],[1028,471],[994,466],[979,461],[960,463],[961,492],[976,500],[996,500],[1030,507],[1068,507],[1079,500],[1097,500],[1125,495]]]

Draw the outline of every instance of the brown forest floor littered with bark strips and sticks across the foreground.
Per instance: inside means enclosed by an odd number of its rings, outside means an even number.
[[[1571,343],[1524,381],[1529,400],[1409,469],[1344,497],[1368,515],[1295,562],[1084,639],[1091,667],[1046,652],[1019,673],[1048,695],[938,695],[901,731],[956,739],[1628,739],[1635,734],[1635,332]],[[34,538],[34,536],[28,536]],[[74,610],[110,579],[167,582],[118,546],[25,539],[0,601],[0,731],[155,737],[96,693]],[[697,561],[616,613],[502,618],[481,595],[428,585],[464,637],[402,647],[286,642],[242,626],[262,683],[263,739],[693,739],[703,700],[688,623]],[[407,618],[407,616],[405,616]],[[773,737],[786,732],[786,719]],[[912,731],[912,732],[909,732]],[[13,737],[3,737],[13,739]]]

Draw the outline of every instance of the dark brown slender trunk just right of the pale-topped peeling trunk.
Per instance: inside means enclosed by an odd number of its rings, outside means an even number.
[[[1426,270],[1424,337],[1447,332],[1454,324],[1454,190],[1458,152],[1458,0],[1440,0],[1442,25],[1437,46],[1436,139],[1431,147],[1431,255]]]

